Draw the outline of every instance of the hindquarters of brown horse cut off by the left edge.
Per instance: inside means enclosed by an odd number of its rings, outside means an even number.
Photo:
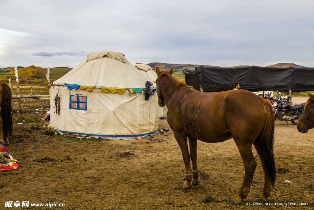
[[[8,83],[0,80],[0,140],[9,144],[12,135],[12,91]]]

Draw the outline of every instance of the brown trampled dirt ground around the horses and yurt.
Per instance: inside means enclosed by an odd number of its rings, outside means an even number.
[[[300,104],[306,99],[295,98],[294,102]],[[49,107],[47,100],[36,101],[22,107]],[[16,111],[14,103],[14,119]],[[24,111],[23,116],[45,115],[44,111],[36,112]],[[42,128],[48,124],[37,125]],[[160,119],[159,125],[169,128],[166,119]],[[16,170],[0,171],[0,209],[10,209],[4,207],[5,201],[65,204],[28,209],[314,209],[314,129],[302,134],[291,122],[275,122],[276,168],[284,169],[277,173],[269,200],[275,204],[268,206],[247,205],[256,202],[263,190],[258,156],[247,201],[230,204],[244,177],[243,162],[232,139],[213,144],[198,142],[198,166],[206,176],[200,177],[199,185],[183,191],[180,187],[185,167],[171,130],[168,136],[155,135],[166,142],[151,142],[148,138],[80,142],[46,135],[46,129],[33,130],[30,126],[14,123],[7,148],[20,163]],[[207,196],[212,202],[202,202]]]

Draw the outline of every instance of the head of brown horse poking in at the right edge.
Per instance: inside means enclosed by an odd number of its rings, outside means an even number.
[[[301,133],[306,133],[309,129],[314,128],[314,94],[307,91],[306,93],[310,98],[307,99],[302,116],[296,126]]]

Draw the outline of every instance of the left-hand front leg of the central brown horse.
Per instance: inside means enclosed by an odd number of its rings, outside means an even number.
[[[185,133],[178,133],[178,132],[173,132],[174,136],[176,138],[176,141],[178,142],[178,145],[180,146],[181,152],[182,152],[182,157],[183,161],[185,164],[185,171],[187,175],[187,179],[184,181],[181,189],[189,189],[192,186],[192,176],[193,176],[193,170],[191,167],[190,163],[190,155],[189,155],[189,150],[187,147],[187,135]]]

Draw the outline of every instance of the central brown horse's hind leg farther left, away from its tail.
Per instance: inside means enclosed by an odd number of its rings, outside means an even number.
[[[236,142],[237,143],[237,142]],[[253,180],[253,175],[256,168],[256,162],[252,153],[252,144],[247,143],[246,145],[238,145],[243,164],[244,164],[244,180],[240,192],[238,195],[234,196],[230,201],[232,204],[241,204],[242,201],[246,201],[249,196],[250,187]]]

